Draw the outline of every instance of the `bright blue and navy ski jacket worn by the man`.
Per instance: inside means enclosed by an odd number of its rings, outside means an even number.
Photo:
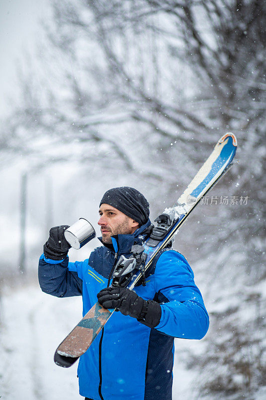
[[[130,255],[142,243],[142,232],[112,237],[113,245],[95,248],[88,259],[69,262],[39,259],[41,289],[58,297],[82,295],[83,316],[107,286],[110,272],[121,254]],[[101,240],[101,239],[100,239]],[[112,282],[112,279],[110,280]],[[209,317],[193,271],[185,257],[173,249],[162,250],[146,274],[146,286],[134,291],[160,303],[162,315],[149,328],[129,315],[115,312],[78,364],[79,392],[93,400],[171,400],[174,337],[201,339]]]

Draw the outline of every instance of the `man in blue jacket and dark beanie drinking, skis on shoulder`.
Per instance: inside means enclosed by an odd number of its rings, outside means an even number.
[[[209,327],[193,271],[167,248],[149,267],[146,285],[110,287],[117,259],[150,233],[149,203],[132,187],[116,187],[103,195],[99,214],[103,245],[88,259],[68,261],[65,225],[51,228],[39,260],[44,292],[82,294],[83,315],[97,299],[119,310],[80,357],[79,392],[92,400],[171,400],[174,337],[200,339]]]

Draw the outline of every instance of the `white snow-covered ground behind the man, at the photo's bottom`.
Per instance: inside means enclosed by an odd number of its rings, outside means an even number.
[[[53,353],[81,317],[81,297],[56,298],[37,284],[3,290],[0,302],[1,400],[75,400],[77,363],[61,368]],[[184,342],[184,344],[183,344]],[[193,400],[194,374],[180,357],[187,340],[176,342],[173,400]],[[199,342],[190,341],[191,345]],[[198,399],[199,400],[199,399]]]

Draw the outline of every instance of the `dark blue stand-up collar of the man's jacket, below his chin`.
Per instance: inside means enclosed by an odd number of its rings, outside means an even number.
[[[108,247],[110,250],[117,252],[118,254],[129,253],[133,244],[142,244],[142,242],[146,239],[147,234],[145,233],[145,230],[150,225],[151,221],[148,219],[145,225],[141,225],[132,234],[116,234],[112,236],[113,244],[103,243],[101,236],[98,237],[98,239],[105,247]]]

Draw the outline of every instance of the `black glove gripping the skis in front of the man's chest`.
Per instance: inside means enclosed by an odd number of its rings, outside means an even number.
[[[160,322],[162,310],[153,300],[144,300],[126,287],[106,287],[97,294],[104,308],[118,308],[124,315],[130,315],[144,325],[154,328]]]

